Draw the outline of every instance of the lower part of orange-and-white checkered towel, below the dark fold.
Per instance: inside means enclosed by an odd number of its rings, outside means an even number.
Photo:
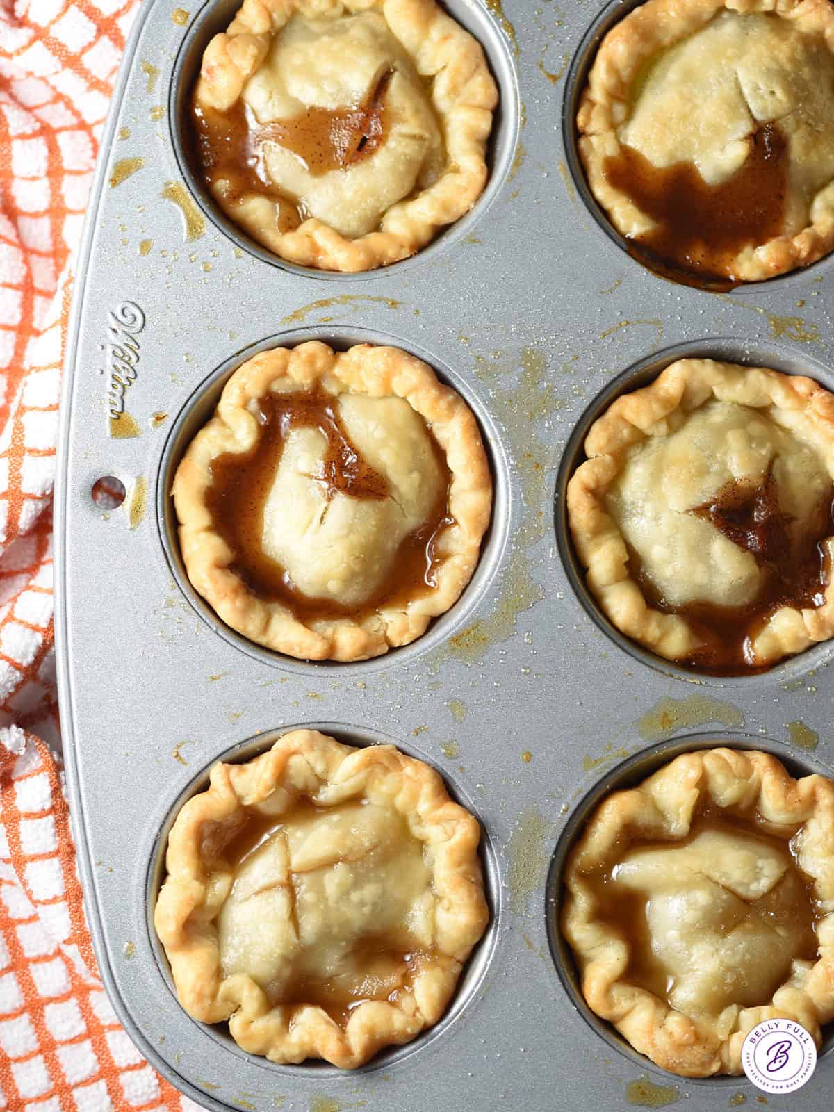
[[[54,757],[0,729],[0,1108],[197,1110],[142,1059],[101,987]]]

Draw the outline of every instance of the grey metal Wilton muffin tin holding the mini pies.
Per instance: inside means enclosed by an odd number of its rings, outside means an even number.
[[[588,598],[563,495],[600,406],[679,355],[834,388],[831,264],[729,295],[643,269],[587,197],[572,123],[599,34],[633,4],[447,0],[502,87],[485,197],[387,270],[285,265],[229,227],[183,161],[183,82],[236,6],[140,9],[68,337],[56,639],[79,868],[113,1005],[151,1063],[212,1110],[755,1104],[745,1079],[666,1074],[588,1013],[555,929],[560,868],[599,793],[682,747],[728,739],[831,775],[834,645],[733,679],[643,653]],[[224,627],[182,575],[168,498],[228,374],[311,337],[425,358],[478,417],[496,486],[459,603],[413,645],[353,665],[281,657]],[[90,497],[105,475],[127,488],[119,509]],[[297,725],[395,742],[435,765],[485,831],[493,921],[448,1014],[355,1072],[274,1065],[193,1022],[150,925],[182,801],[218,758],[252,755]],[[813,1080],[772,1106],[827,1112],[831,1041]]]

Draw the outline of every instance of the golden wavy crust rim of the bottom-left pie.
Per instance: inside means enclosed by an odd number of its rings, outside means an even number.
[[[251,976],[225,977],[221,966],[217,920],[234,880],[225,847],[247,814],[280,822],[299,795],[324,810],[351,802],[393,808],[423,843],[429,870],[431,963],[407,994],[359,1003],[344,1026],[320,1006],[270,1004]],[[203,1023],[228,1020],[244,1050],[274,1062],[324,1058],[349,1070],[408,1042],[440,1019],[486,929],[479,837],[477,821],[449,798],[438,774],[390,745],[357,749],[297,729],[245,764],[216,764],[208,791],[189,800],[173,824],[155,911],[180,1003]]]

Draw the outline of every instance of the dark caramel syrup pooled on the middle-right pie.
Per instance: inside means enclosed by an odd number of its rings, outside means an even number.
[[[765,572],[753,602],[745,606],[688,603],[673,606],[642,568],[637,553],[628,549],[628,566],[646,602],[665,614],[685,617],[701,646],[679,663],[712,675],[738,676],[765,671],[753,663],[753,642],[781,606],[797,609],[822,606],[831,568],[822,542],[834,524],[834,487],[821,499],[806,530],[792,544],[791,518],[780,507],[778,488],[768,473],[764,484],[733,480],[712,502],[691,513],[703,517],[739,548],[752,553]]]

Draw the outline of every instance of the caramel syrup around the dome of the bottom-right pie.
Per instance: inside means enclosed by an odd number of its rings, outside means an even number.
[[[823,911],[814,892],[813,880],[798,865],[794,837],[798,826],[786,830],[766,823],[758,815],[742,817],[712,802],[703,804],[693,816],[689,834],[685,838],[666,842],[644,841],[639,837],[625,835],[618,854],[622,861],[632,848],[661,850],[676,848],[689,845],[704,831],[718,831],[727,834],[744,834],[755,837],[764,845],[771,845],[781,853],[787,851],[791,865],[775,888],[755,901],[759,917],[773,927],[790,930],[800,941],[795,953],[803,961],[816,961],[820,953],[820,942],[816,936],[816,925],[823,917]],[[623,936],[629,945],[628,966],[623,979],[636,984],[659,1000],[671,1004],[669,995],[675,986],[674,977],[665,965],[655,957],[652,949],[652,934],[646,916],[648,896],[638,891],[629,891],[616,883],[615,868],[593,874],[586,880],[590,884],[597,901],[596,915]],[[788,885],[787,893],[780,898],[780,888]],[[785,895],[790,898],[785,898]],[[746,999],[737,1003],[746,1006],[757,1006],[767,1003],[778,981],[772,985],[762,983],[762,971],[751,970],[752,980],[739,991]],[[781,979],[780,971],[775,975]]]

